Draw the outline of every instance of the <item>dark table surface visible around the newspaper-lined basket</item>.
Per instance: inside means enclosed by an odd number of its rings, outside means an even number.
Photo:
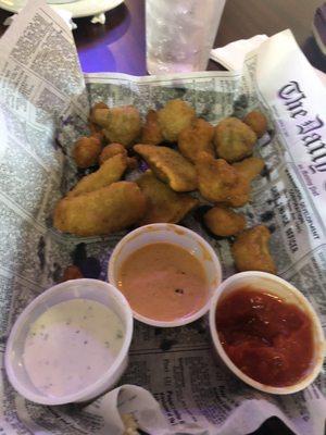
[[[312,65],[326,73],[326,57],[318,49],[311,29],[314,12],[321,3],[322,0],[226,0],[214,47],[258,34],[272,36],[290,28]],[[0,23],[9,15],[0,11]],[[125,0],[106,13],[104,25],[93,25],[89,17],[75,22],[78,27],[74,36],[84,72],[147,74],[145,0]],[[4,30],[0,24],[0,35]],[[213,61],[208,69],[222,70]],[[254,435],[272,434],[290,435],[292,432],[274,418],[254,432]]]

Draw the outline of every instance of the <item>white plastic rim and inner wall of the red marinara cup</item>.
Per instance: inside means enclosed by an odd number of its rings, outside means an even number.
[[[255,381],[254,378],[243,373],[243,371],[241,371],[231,361],[225,347],[223,346],[223,334],[221,332],[218,334],[216,326],[216,322],[218,319],[218,307],[221,307],[221,303],[223,303],[223,301],[225,301],[227,298],[229,298],[228,300],[230,301],[231,300],[230,296],[235,296],[237,291],[238,295],[242,289],[243,291],[246,291],[246,288],[259,291],[261,294],[268,294],[268,296],[272,296],[272,298],[275,297],[275,299],[278,300],[280,299],[281,302],[285,302],[286,304],[299,308],[304,314],[306,314],[308,319],[311,322],[312,326],[312,328],[310,330],[312,337],[312,357],[310,360],[311,362],[309,364],[308,370],[302,374],[302,377],[300,377],[297,382],[294,382],[291,385],[272,386]],[[222,309],[224,309],[224,307],[225,304],[222,306]],[[235,307],[234,309],[236,310]],[[323,366],[324,352],[325,352],[325,337],[316,312],[314,311],[312,304],[308,301],[308,299],[302,295],[301,291],[299,291],[294,286],[292,286],[285,279],[272,275],[269,273],[242,272],[233,275],[225,282],[223,282],[218,287],[218,290],[216,291],[215,296],[212,298],[212,303],[210,309],[210,330],[214,348],[220,359],[222,359],[225,365],[241,381],[261,391],[277,394],[277,395],[286,395],[300,391],[303,388],[308,387],[316,378]],[[241,341],[239,340],[239,343]],[[255,366],[258,366],[259,362],[260,361],[258,357],[255,360]]]

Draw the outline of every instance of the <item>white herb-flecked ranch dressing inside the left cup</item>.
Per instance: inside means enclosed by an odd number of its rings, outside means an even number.
[[[47,396],[78,393],[112,365],[124,341],[121,319],[102,303],[72,299],[45,311],[30,326],[24,364]]]

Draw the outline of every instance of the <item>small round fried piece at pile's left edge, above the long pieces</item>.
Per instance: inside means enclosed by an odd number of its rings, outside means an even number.
[[[101,149],[102,145],[98,136],[79,137],[73,149],[76,165],[83,169],[93,166],[98,162]]]

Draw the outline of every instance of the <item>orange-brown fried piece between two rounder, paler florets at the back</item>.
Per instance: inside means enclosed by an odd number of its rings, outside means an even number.
[[[178,149],[192,163],[201,151],[214,157],[213,136],[214,127],[206,121],[198,119],[179,134]]]

